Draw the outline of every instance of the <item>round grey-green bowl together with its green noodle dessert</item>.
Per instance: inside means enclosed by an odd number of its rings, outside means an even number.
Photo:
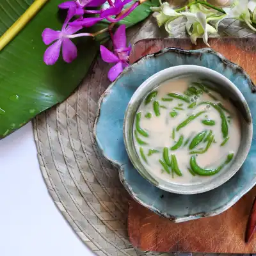
[[[218,72],[166,68],[132,95],[125,147],[138,172],[147,172],[159,188],[202,193],[230,179],[246,159],[252,142],[248,109],[242,93]]]

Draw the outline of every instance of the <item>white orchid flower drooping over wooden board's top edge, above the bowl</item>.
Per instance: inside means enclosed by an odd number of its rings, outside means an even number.
[[[185,15],[188,19],[186,23],[186,30],[190,35],[191,42],[193,44],[196,44],[196,39],[202,36],[204,43],[207,46],[210,46],[208,44],[208,35],[212,33],[216,33],[217,31],[211,25],[207,24],[207,16],[205,15],[205,13],[202,13],[202,12],[191,13],[191,12],[188,12],[188,9],[186,9],[186,12],[182,14]],[[191,28],[192,28],[192,31],[191,31]]]

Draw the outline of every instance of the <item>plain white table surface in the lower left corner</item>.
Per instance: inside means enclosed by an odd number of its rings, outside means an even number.
[[[94,255],[47,192],[31,123],[0,141],[0,255]]]

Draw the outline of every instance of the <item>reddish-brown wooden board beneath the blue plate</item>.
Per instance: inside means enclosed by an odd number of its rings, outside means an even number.
[[[256,40],[253,38],[211,39],[211,47],[239,64],[256,83]],[[141,40],[134,45],[131,62],[164,47],[200,49],[202,42],[192,45],[189,39],[163,38]],[[128,230],[131,243],[143,251],[256,253],[256,234],[244,243],[246,223],[256,187],[237,204],[222,214],[184,223],[172,223],[132,201]]]

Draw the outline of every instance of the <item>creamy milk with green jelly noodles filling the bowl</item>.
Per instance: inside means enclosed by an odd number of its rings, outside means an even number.
[[[196,183],[225,172],[234,161],[241,138],[239,115],[228,97],[212,88],[218,87],[178,77],[159,84],[141,102],[133,142],[153,177]]]

